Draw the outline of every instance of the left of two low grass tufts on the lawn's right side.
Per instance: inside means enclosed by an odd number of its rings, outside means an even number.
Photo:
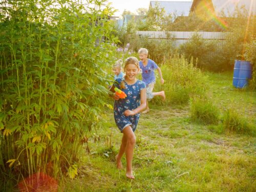
[[[208,98],[191,99],[190,114],[192,121],[203,124],[218,124],[220,111]]]

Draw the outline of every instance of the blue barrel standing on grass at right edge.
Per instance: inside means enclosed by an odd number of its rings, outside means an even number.
[[[249,61],[235,60],[233,86],[236,88],[244,88],[248,85],[247,79],[251,78],[252,67]]]

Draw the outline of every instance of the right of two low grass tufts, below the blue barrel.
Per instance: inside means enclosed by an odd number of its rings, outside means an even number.
[[[252,125],[234,109],[227,109],[225,111],[223,127],[224,131],[230,133],[248,134],[252,131]]]

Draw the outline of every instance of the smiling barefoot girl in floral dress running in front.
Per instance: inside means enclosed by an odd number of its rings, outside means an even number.
[[[122,168],[121,158],[125,153],[126,177],[134,179],[132,170],[133,150],[136,143],[135,130],[139,121],[139,113],[146,108],[145,83],[136,79],[139,74],[139,61],[136,57],[129,57],[124,62],[123,78],[117,78],[110,91],[118,89],[125,92],[126,98],[121,99],[114,95],[114,117],[116,125],[123,133],[122,143],[116,155],[117,168]]]

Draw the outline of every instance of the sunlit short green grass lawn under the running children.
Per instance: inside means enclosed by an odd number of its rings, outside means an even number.
[[[221,112],[233,108],[256,124],[255,92],[232,88],[232,74],[209,76],[210,98]],[[142,114],[136,130],[135,180],[118,170],[122,134],[112,111],[103,129],[90,133],[90,154],[81,154],[78,176],[60,191],[256,191],[255,136],[217,134],[192,123],[189,105],[157,106]],[[255,126],[254,126],[255,127]],[[125,158],[122,163],[125,167]]]

